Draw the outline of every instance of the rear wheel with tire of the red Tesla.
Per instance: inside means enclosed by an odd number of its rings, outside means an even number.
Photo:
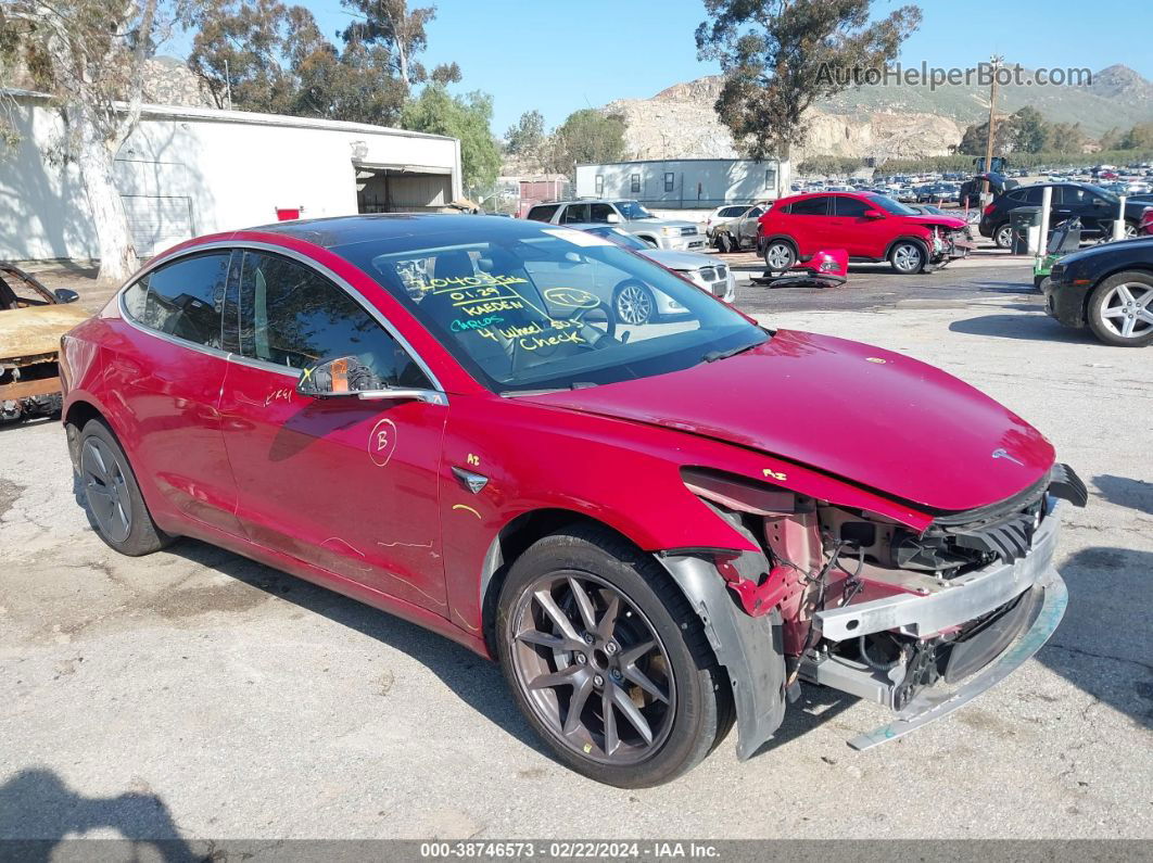
[[[169,545],[148,510],[128,457],[112,430],[89,419],[80,433],[77,470],[89,523],[112,548],[137,558]]]

